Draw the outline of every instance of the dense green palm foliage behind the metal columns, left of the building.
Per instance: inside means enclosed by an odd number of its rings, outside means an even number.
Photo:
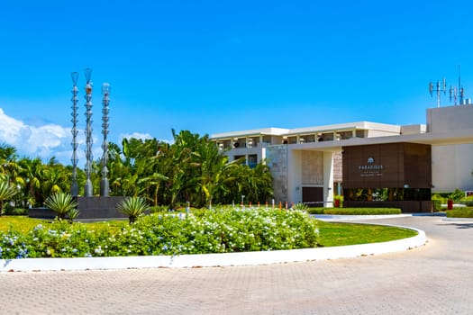
[[[211,208],[238,202],[241,195],[255,204],[272,198],[272,176],[265,164],[250,168],[243,160],[229,162],[225,151],[207,135],[172,130],[172,137],[173,143],[133,138],[123,139],[121,146],[109,143],[109,195],[141,197],[150,206],[168,209],[186,202]],[[96,195],[101,168],[97,159],[91,175]],[[71,174],[72,166],[63,166],[54,157],[46,163],[40,158],[19,158],[14,147],[0,145],[0,180],[17,188],[8,197],[12,208],[42,206],[50,195],[68,193]],[[77,169],[79,194],[85,180],[84,172]]]

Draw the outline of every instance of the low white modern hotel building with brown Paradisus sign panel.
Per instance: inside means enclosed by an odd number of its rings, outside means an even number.
[[[359,121],[241,130],[211,139],[230,160],[245,157],[250,167],[267,163],[276,201],[332,206],[333,195],[343,194],[350,205],[353,198],[376,202],[382,192],[392,202],[403,199],[395,204],[403,209],[428,211],[431,192],[473,190],[473,105],[426,113],[426,124]]]

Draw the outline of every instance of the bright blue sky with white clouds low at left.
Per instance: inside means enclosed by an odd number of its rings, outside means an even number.
[[[0,142],[68,164],[70,73],[80,72],[84,129],[86,67],[95,88],[95,157],[104,82],[116,143],[133,134],[171,139],[171,128],[424,123],[436,106],[431,80],[457,85],[460,65],[466,96],[473,95],[472,8],[467,1],[0,4]],[[448,95],[441,103],[450,104]]]

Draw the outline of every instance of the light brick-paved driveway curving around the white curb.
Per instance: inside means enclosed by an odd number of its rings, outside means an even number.
[[[473,221],[370,220],[423,229],[404,253],[195,269],[0,274],[5,314],[472,314]]]

